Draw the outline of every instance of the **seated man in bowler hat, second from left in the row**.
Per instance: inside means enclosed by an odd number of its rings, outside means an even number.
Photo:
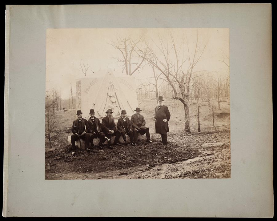
[[[90,109],[89,114],[90,114],[90,119],[88,119],[87,123],[88,123],[91,147],[94,147],[93,139],[99,138],[100,140],[99,140],[98,146],[100,149],[102,149],[102,143],[105,143],[106,139],[105,139],[104,133],[102,132],[100,120],[94,117],[93,109]],[[88,148],[87,148],[87,151],[89,151]]]

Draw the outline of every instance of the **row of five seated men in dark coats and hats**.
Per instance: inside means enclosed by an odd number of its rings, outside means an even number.
[[[145,126],[144,117],[140,114],[140,108],[137,107],[135,111],[136,113],[132,115],[130,120],[126,117],[126,111],[122,110],[116,129],[112,109],[106,111],[107,116],[102,119],[102,123],[94,116],[94,109],[90,109],[90,118],[88,120],[82,118],[81,110],[77,110],[78,119],[74,120],[71,129],[73,133],[73,135],[71,135],[72,154],[74,154],[76,149],[75,141],[79,139],[85,140],[86,151],[94,147],[94,138],[100,139],[98,143],[100,149],[103,148],[103,144],[106,141],[108,141],[107,147],[110,149],[113,148],[111,145],[111,136],[115,136],[113,145],[121,145],[119,142],[120,136],[122,136],[125,145],[127,145],[126,135],[128,135],[130,139],[128,139],[128,137],[127,139],[130,144],[137,147],[139,133],[141,135],[146,134],[147,141],[153,143],[150,139],[149,128]],[[89,147],[89,143],[91,147]]]

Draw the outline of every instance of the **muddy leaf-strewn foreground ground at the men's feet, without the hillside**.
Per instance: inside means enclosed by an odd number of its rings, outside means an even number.
[[[160,135],[152,144],[116,146],[71,155],[70,148],[46,152],[45,179],[184,179],[231,178],[230,131]],[[182,141],[183,140],[183,141]]]

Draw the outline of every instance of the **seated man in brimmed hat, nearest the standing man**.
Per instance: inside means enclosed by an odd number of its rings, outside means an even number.
[[[134,115],[132,115],[131,117],[131,124],[133,127],[133,131],[134,131],[134,143],[135,143],[135,147],[138,146],[138,136],[139,133],[141,135],[146,134],[146,139],[149,143],[153,143],[150,139],[150,133],[149,133],[149,128],[145,126],[145,120],[143,115],[140,114],[140,108],[137,107],[136,108],[136,113]]]

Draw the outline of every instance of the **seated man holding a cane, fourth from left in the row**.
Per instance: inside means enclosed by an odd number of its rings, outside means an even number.
[[[134,145],[133,127],[130,122],[130,119],[126,117],[126,110],[122,110],[121,115],[122,117],[119,118],[117,122],[117,129],[120,131],[122,138],[125,142],[125,145],[127,145],[126,134],[130,137],[130,144]]]

